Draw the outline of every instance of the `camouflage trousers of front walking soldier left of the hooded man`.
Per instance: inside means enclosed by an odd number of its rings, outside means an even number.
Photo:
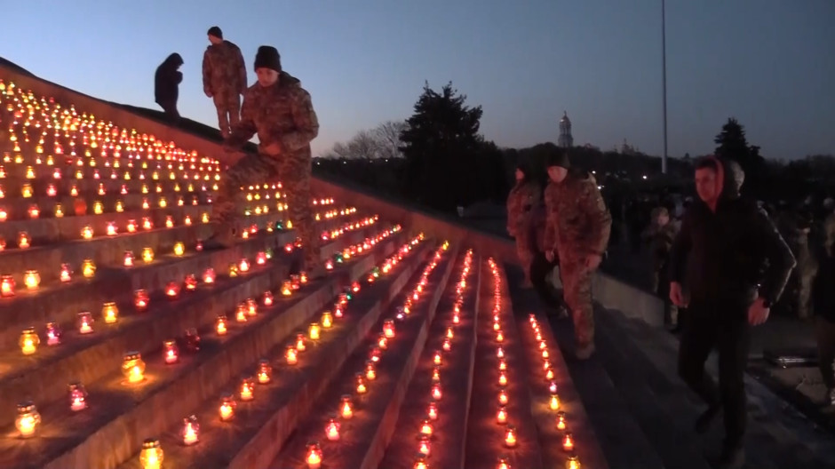
[[[562,296],[574,322],[577,348],[594,342],[594,309],[592,307],[592,276],[594,270],[585,266],[585,259],[561,256]]]

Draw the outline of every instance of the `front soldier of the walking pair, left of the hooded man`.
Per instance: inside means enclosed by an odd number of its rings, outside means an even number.
[[[591,174],[569,171],[569,156],[548,160],[545,255],[560,259],[565,302],[574,320],[577,358],[594,353],[592,276],[608,246],[612,217]]]

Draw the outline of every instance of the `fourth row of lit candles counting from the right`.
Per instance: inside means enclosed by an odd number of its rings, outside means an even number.
[[[422,237],[420,239],[422,239]],[[410,244],[404,246],[406,248],[405,252],[408,252],[408,248],[418,241],[419,239],[415,238],[412,242],[410,242]],[[362,371],[359,371],[354,375],[354,393],[356,393],[357,396],[362,396],[369,392],[371,383],[377,379],[378,362],[382,360],[383,354],[389,348],[390,342],[394,339],[396,334],[395,320],[401,322],[404,321],[411,313],[411,308],[415,305],[415,303],[426,291],[429,291],[426,289],[429,282],[429,275],[432,274],[434,268],[438,266],[438,262],[440,261],[443,252],[448,249],[449,242],[443,242],[438,249],[435,250],[432,260],[424,267],[424,270],[420,275],[420,280],[418,280],[418,283],[415,285],[415,288],[411,291],[411,293],[406,295],[406,298],[403,300],[402,307],[397,308],[397,313],[394,314],[394,318],[383,321],[382,330],[379,332],[378,338],[370,347],[369,359],[364,363]],[[401,250],[396,254],[395,258],[389,259],[389,261],[392,262],[392,265],[402,259],[403,252],[404,250]],[[339,399],[338,415],[330,417],[324,428],[325,438],[328,441],[339,441],[341,427],[343,423],[354,417],[354,411],[354,397],[351,394],[343,394]],[[324,451],[322,450],[322,444],[320,444],[319,441],[308,442],[305,448],[305,463],[307,468],[320,469],[320,467],[322,467],[323,459]]]

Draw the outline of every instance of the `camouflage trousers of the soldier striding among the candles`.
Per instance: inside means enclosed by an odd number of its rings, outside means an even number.
[[[305,268],[320,261],[319,237],[314,229],[310,207],[310,159],[274,158],[268,155],[247,154],[229,167],[220,177],[218,195],[211,205],[211,218],[220,227],[233,227],[236,198],[243,195],[242,187],[265,182],[282,182],[282,193],[287,195],[289,218],[305,250]],[[271,208],[274,210],[274,207]]]

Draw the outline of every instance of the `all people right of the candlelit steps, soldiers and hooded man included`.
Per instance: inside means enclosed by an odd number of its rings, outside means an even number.
[[[680,378],[707,404],[704,433],[720,412],[726,438],[720,467],[744,465],[744,370],[751,327],[772,308],[817,316],[820,368],[835,405],[835,212],[811,201],[799,210],[741,195],[744,171],[732,159],[696,163],[696,197],[641,196],[618,201],[613,216],[592,174],[570,168],[568,155],[546,163],[545,190],[525,162],[507,199],[507,230],[516,240],[527,283],[549,313],[574,323],[577,358],[594,351],[591,276],[608,243],[648,245],[650,284],[664,299],[664,322],[680,334]],[[613,203],[613,201],[609,201]],[[775,221],[772,221],[775,220]],[[559,266],[562,296],[547,281]],[[788,288],[786,287],[788,285]],[[787,294],[783,296],[783,290]],[[782,298],[782,299],[781,299]],[[719,352],[719,383],[704,371]]]

